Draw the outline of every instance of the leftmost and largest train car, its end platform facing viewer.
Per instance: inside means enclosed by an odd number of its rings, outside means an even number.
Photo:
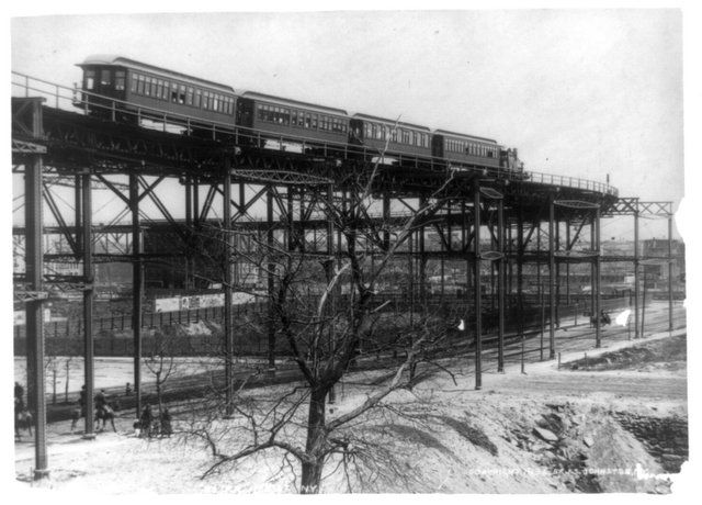
[[[110,117],[114,106],[121,111],[122,121],[135,122],[138,111],[139,117],[162,120],[166,113],[172,114],[173,121],[183,115],[204,123],[234,125],[236,94],[229,86],[122,56],[90,56],[78,66],[83,70],[84,92],[77,105],[92,115]]]

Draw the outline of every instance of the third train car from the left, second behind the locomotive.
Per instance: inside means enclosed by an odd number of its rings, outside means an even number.
[[[431,157],[431,130],[410,123],[395,122],[367,114],[351,117],[349,143],[376,149],[387,145],[388,154]],[[389,141],[389,142],[388,142]]]

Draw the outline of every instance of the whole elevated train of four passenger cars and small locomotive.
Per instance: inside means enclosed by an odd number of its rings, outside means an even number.
[[[235,126],[249,132],[239,143],[267,139],[301,139],[308,152],[315,143],[375,149],[386,154],[438,158],[451,164],[523,171],[517,149],[505,149],[496,141],[427,126],[396,122],[369,114],[244,91],[210,80],[147,65],[122,56],[97,55],[78,64],[83,70],[77,106],[91,115],[114,114],[118,121],[140,117],[159,121],[166,115],[189,117],[191,132],[210,124]],[[116,104],[116,105],[115,105]]]

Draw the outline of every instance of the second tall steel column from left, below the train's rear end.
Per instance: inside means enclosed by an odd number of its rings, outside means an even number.
[[[92,337],[92,301],[94,294],[94,267],[92,263],[92,188],[90,186],[90,171],[81,176],[82,191],[82,249],[83,249],[83,359],[84,359],[84,385],[86,385],[86,430],[83,438],[94,439],[93,397],[94,397],[94,341]]]

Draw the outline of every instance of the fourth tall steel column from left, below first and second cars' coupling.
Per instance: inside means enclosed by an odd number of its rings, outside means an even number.
[[[234,330],[231,327],[231,256],[234,237],[231,234],[231,162],[229,158],[224,162],[224,180],[222,181],[222,218],[224,233],[224,377],[225,377],[225,415],[234,413],[233,391],[233,360],[234,360]]]

